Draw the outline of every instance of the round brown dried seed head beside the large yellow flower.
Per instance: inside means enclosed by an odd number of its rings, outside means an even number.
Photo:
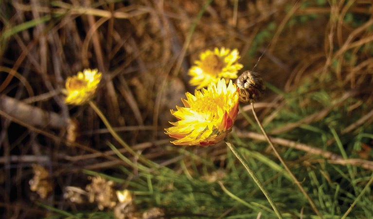
[[[236,80],[236,85],[240,89],[239,100],[243,103],[255,103],[266,91],[262,76],[256,72],[246,71]]]

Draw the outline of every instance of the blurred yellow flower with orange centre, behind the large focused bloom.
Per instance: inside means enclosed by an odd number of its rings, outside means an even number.
[[[237,77],[238,70],[243,65],[237,63],[240,58],[237,49],[230,50],[224,47],[214,51],[206,50],[201,53],[200,60],[195,61],[195,65],[189,69],[188,74],[192,76],[189,83],[197,86],[196,89],[207,87],[210,82],[216,83],[220,78],[229,79]]]

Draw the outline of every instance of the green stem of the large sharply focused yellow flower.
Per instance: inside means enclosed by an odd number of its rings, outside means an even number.
[[[241,164],[246,168],[251,178],[254,180],[254,182],[258,185],[260,190],[262,190],[263,194],[266,196],[269,204],[272,206],[273,210],[275,211],[277,217],[279,219],[283,219],[283,216],[281,215],[279,209],[277,208],[275,202],[273,201],[272,197],[270,196],[269,192],[267,191],[266,187],[259,181],[258,177],[256,176],[255,172],[251,169],[249,163],[245,160],[245,158],[242,156],[242,154],[237,150],[237,148],[231,143],[231,141],[228,138],[225,138],[225,143],[227,146],[231,149],[233,154],[237,157],[237,159],[241,162]]]

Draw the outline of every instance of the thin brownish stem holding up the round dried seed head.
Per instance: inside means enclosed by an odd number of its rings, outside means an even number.
[[[303,189],[301,183],[299,183],[299,181],[297,180],[297,178],[295,178],[294,174],[290,171],[289,167],[287,167],[287,165],[285,164],[284,160],[281,158],[279,152],[277,152],[275,146],[273,146],[271,140],[268,138],[268,135],[266,134],[266,131],[264,130],[262,124],[260,123],[259,119],[258,119],[258,116],[256,115],[255,113],[255,109],[254,109],[254,104],[251,103],[251,107],[252,107],[252,113],[254,114],[254,117],[255,117],[255,120],[256,122],[258,123],[260,129],[262,130],[264,136],[266,137],[266,140],[267,142],[269,143],[269,145],[271,146],[271,148],[273,149],[273,152],[275,152],[277,158],[280,160],[281,164],[284,165],[286,171],[290,174],[291,178],[293,178],[294,180],[294,183],[298,185],[299,189],[301,189],[303,195],[307,198],[307,200],[310,202],[311,204],[311,207],[312,209],[315,211],[315,213],[320,217],[320,219],[322,219],[322,216],[319,212],[319,210],[316,208],[316,205],[315,203],[312,201],[312,199],[308,196],[308,194],[306,193],[306,191]]]

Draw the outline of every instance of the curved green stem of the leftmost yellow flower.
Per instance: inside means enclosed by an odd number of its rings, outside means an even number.
[[[151,162],[147,160],[146,158],[142,157],[140,154],[136,153],[130,146],[127,145],[123,141],[123,139],[118,135],[118,133],[114,130],[114,128],[110,125],[110,123],[107,121],[107,118],[105,117],[104,113],[98,107],[96,104],[94,104],[92,101],[89,101],[89,106],[97,113],[97,115],[101,118],[101,120],[104,122],[105,126],[109,130],[110,134],[121,144],[128,152],[130,152],[133,156],[138,158],[143,164],[147,164],[152,167],[158,167],[158,164]]]

